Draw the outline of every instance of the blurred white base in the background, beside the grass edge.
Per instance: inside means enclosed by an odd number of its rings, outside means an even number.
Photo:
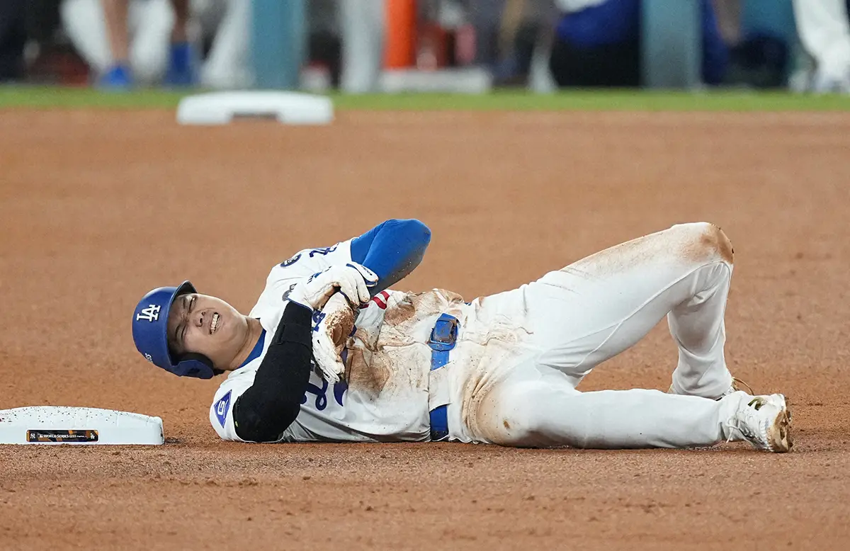
[[[296,92],[241,91],[196,94],[180,100],[180,124],[227,124],[236,117],[274,118],[283,124],[330,124],[330,98]]]

